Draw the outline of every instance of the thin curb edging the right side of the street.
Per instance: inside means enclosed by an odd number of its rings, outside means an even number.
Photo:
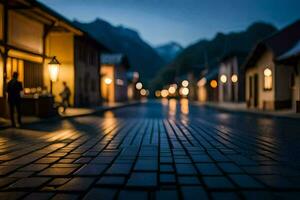
[[[272,113],[255,112],[255,111],[251,111],[251,110],[233,110],[230,108],[222,108],[219,106],[214,106],[214,105],[209,105],[209,104],[202,104],[202,105],[199,105],[197,103],[192,103],[192,104],[197,105],[197,106],[203,106],[203,107],[210,108],[210,109],[220,110],[220,111],[227,112],[227,113],[243,113],[243,114],[255,115],[255,116],[260,116],[260,117],[278,118],[278,119],[300,119],[300,115],[299,116],[289,116],[289,115],[280,115],[280,114],[276,115],[276,114],[272,114]]]

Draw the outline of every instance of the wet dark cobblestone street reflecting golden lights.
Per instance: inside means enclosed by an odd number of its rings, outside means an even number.
[[[0,199],[298,199],[300,123],[148,102],[0,130]]]

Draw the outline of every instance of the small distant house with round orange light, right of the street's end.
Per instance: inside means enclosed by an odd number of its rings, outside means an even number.
[[[201,79],[198,81],[198,101],[218,102],[218,68],[205,70]]]

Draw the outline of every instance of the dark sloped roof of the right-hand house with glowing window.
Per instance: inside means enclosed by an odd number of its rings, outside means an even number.
[[[290,24],[289,26],[277,31],[271,36],[259,42],[249,54],[245,68],[255,65],[257,60],[267,50],[271,50],[278,60],[279,57],[288,52],[300,39],[300,20]]]

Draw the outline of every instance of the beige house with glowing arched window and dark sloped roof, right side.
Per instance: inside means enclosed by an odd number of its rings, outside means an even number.
[[[280,57],[300,39],[300,21],[259,42],[246,63],[246,101],[250,108],[291,108],[296,68]]]

